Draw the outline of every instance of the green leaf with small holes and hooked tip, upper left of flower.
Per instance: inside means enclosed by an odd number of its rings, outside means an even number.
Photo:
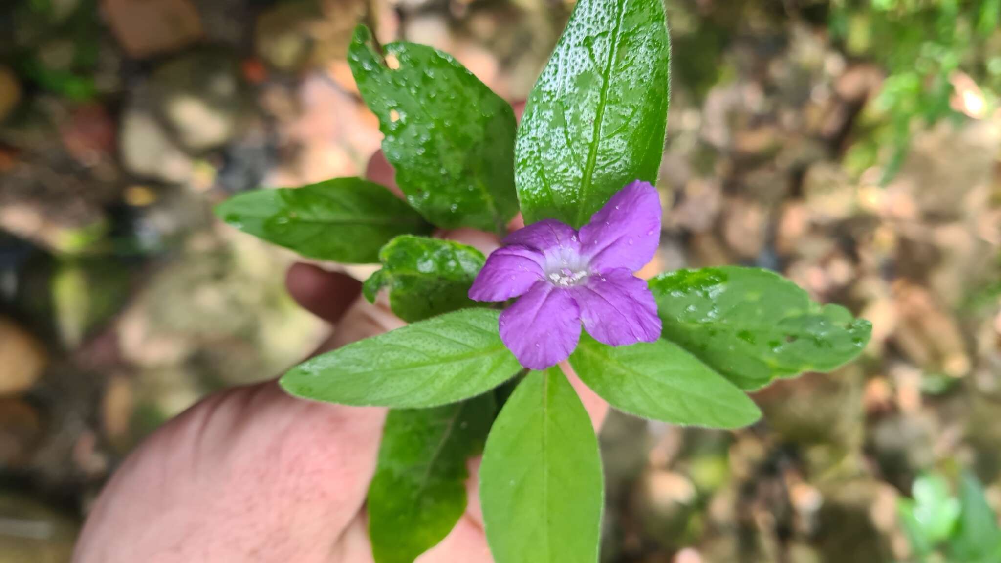
[[[444,228],[503,232],[518,212],[511,105],[445,53],[398,42],[382,60],[370,38],[354,30],[348,62],[407,201]]]

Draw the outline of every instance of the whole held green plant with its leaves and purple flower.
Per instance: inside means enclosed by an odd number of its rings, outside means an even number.
[[[598,560],[598,440],[562,361],[624,412],[733,429],[761,416],[747,391],[833,370],[868,342],[868,322],[769,271],[634,276],[661,234],[650,183],[670,97],[661,0],[579,1],[519,127],[444,53],[381,51],[359,27],[348,56],[405,202],[341,178],[240,194],[216,211],[303,255],[380,262],[365,296],[388,289],[410,323],[281,379],[298,397],[393,409],[367,503],[378,563],[412,562],[444,538],[480,452],[497,563]],[[519,211],[528,226],[489,256],[425,235],[505,235]]]

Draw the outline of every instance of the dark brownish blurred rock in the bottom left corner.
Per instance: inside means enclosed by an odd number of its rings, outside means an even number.
[[[20,493],[0,491],[0,563],[66,563],[79,524]]]

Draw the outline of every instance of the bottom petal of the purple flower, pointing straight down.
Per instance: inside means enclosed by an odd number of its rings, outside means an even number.
[[[500,314],[500,340],[526,368],[556,366],[581,340],[580,310],[567,289],[538,282]]]

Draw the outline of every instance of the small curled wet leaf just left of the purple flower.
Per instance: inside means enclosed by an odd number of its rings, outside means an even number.
[[[382,269],[365,282],[365,298],[374,302],[388,286],[389,307],[407,323],[477,307],[468,293],[485,259],[479,250],[453,240],[397,236],[379,250]]]

